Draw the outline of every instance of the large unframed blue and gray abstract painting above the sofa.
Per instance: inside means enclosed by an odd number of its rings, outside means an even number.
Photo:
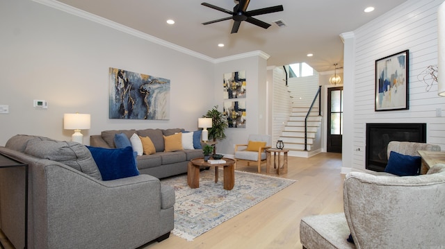
[[[170,80],[110,67],[110,119],[169,119]]]

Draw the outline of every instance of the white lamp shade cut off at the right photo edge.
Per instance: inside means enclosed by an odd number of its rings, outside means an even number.
[[[437,94],[445,96],[445,3],[437,10]]]

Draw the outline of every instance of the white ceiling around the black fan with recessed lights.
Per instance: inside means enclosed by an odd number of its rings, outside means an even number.
[[[201,3],[233,10],[234,0],[58,0],[161,40],[218,59],[240,53],[263,51],[270,55],[268,66],[306,62],[316,71],[343,66],[341,33],[354,31],[363,24],[395,8],[406,0],[250,0],[248,11],[282,5],[284,11],[255,18],[272,24],[268,29],[242,22],[238,33],[231,34],[233,20],[202,25],[229,17]],[[373,6],[373,12],[363,10]],[[175,24],[166,23],[174,19]],[[281,19],[287,26],[273,22]],[[218,47],[219,43],[225,44]],[[307,57],[307,53],[314,56]]]

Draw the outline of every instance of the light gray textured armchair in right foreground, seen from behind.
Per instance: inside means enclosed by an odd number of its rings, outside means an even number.
[[[444,203],[445,164],[405,177],[351,172],[344,213],[303,217],[300,241],[308,249],[444,248]]]

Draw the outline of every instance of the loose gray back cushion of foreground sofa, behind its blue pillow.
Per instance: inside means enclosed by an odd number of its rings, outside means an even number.
[[[74,141],[56,141],[47,137],[29,140],[24,153],[66,164],[78,171],[101,180],[99,169],[90,151],[83,144]]]

